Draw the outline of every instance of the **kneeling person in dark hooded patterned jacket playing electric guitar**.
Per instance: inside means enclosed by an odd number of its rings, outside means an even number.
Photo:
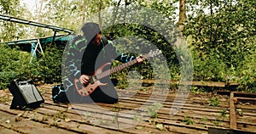
[[[76,64],[74,64],[75,62],[70,62],[73,60],[69,60],[68,65],[72,74],[72,77],[69,76],[69,79],[79,79],[84,86],[88,85],[91,81],[90,75],[99,69],[102,64],[112,63],[113,60],[119,60],[123,63],[129,62],[132,59],[137,59],[138,63],[145,60],[140,56],[135,58],[132,55],[118,53],[113,42],[102,36],[102,31],[96,23],[85,23],[81,31],[83,36],[77,36],[73,40],[73,48],[69,51],[69,54],[79,59],[76,60]],[[80,52],[84,52],[83,56],[76,56]],[[78,65],[78,61],[80,61],[80,65]],[[110,66],[106,68],[110,69]],[[97,87],[90,96],[81,97],[78,93],[71,92],[70,90],[67,92],[67,96],[71,102],[77,103],[117,103],[119,97],[110,81],[110,77],[107,76],[100,81],[102,86]],[[67,86],[67,88],[70,87]]]

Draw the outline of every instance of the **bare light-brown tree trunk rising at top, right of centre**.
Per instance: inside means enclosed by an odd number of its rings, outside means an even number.
[[[183,31],[186,20],[186,0],[179,0],[179,16],[177,26],[180,31]]]

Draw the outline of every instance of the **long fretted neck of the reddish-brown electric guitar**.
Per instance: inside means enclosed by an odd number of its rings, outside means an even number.
[[[107,76],[107,75],[111,75],[113,73],[116,73],[120,70],[124,70],[125,68],[131,66],[132,64],[136,64],[137,63],[137,59],[133,59],[131,60],[130,62],[128,63],[125,63],[125,64],[120,64],[119,66],[116,66],[116,67],[113,67],[113,69],[110,69],[110,70],[105,70],[103,71],[102,73],[100,74],[97,74],[96,75],[96,78],[99,80],[99,79],[102,79],[103,77]]]

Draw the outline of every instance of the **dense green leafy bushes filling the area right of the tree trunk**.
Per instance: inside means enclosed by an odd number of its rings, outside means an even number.
[[[243,85],[241,89],[253,90],[256,3],[246,0],[187,3],[189,15],[183,35],[193,52],[195,80],[239,82]]]

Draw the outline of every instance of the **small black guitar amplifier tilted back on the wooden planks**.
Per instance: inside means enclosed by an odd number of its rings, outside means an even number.
[[[44,98],[32,80],[14,80],[11,81],[8,88],[14,96],[10,109],[32,109],[40,107],[40,104],[44,103]]]

